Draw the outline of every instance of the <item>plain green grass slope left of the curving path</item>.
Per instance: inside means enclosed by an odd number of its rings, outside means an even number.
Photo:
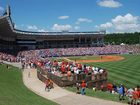
[[[0,105],[57,105],[28,90],[22,73],[15,67],[0,65]]]

